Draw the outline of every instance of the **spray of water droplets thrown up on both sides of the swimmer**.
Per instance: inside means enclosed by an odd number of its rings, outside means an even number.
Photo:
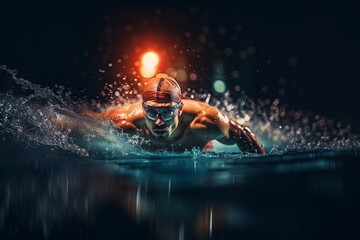
[[[17,72],[0,66],[11,79],[29,92],[26,96],[15,96],[12,92],[0,93],[0,131],[21,141],[26,146],[42,144],[59,147],[80,156],[95,156],[114,158],[118,156],[152,156],[138,147],[145,141],[141,137],[126,136],[118,131],[109,121],[98,121],[79,114],[84,105],[70,99],[71,92],[55,92],[48,87],[17,77]],[[139,101],[141,95],[137,87],[141,84],[137,79],[127,79],[113,84],[106,84],[100,92],[107,102],[100,104],[91,100],[90,105],[103,111],[108,107],[126,105]],[[343,126],[325,116],[311,111],[293,110],[286,107],[279,99],[262,100],[242,96],[233,100],[229,92],[221,98],[215,98],[209,93],[187,89],[184,98],[204,101],[218,107],[240,123],[248,126],[264,144],[269,154],[284,154],[287,152],[304,152],[314,150],[349,150],[359,149],[358,136],[351,133],[350,126]],[[59,128],[54,125],[54,119],[71,123],[81,132],[74,133],[71,128]],[[215,145],[216,151],[227,148]],[[236,146],[230,151],[238,151]],[[175,153],[166,153],[167,156]],[[198,156],[199,149],[193,149],[184,154]]]

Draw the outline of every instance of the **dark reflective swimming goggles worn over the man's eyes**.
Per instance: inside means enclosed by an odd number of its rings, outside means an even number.
[[[150,120],[156,121],[160,115],[162,120],[169,121],[175,117],[175,112],[180,108],[181,103],[168,107],[154,107],[149,106],[143,102],[142,106],[144,108],[146,117],[148,117]]]

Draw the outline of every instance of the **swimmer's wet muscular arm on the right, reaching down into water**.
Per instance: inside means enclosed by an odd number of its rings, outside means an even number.
[[[232,145],[236,144],[243,152],[265,154],[265,150],[249,128],[222,113],[219,109],[206,106],[192,123],[192,129],[205,130],[209,140]],[[196,130],[195,130],[196,131]]]

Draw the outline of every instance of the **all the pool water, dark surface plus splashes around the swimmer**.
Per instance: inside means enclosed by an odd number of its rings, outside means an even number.
[[[152,153],[78,114],[66,89],[0,70],[14,82],[0,93],[0,239],[360,239],[360,141],[349,126],[277,99],[199,94],[267,154],[217,142]],[[82,134],[55,128],[59,116]]]

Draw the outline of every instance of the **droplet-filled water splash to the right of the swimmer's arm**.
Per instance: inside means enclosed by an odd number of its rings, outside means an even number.
[[[190,92],[193,99],[209,99]],[[269,154],[360,148],[359,136],[352,133],[350,125],[313,111],[291,109],[280,99],[255,101],[243,92],[234,101],[226,92],[220,99],[210,98],[209,103],[252,129]]]

